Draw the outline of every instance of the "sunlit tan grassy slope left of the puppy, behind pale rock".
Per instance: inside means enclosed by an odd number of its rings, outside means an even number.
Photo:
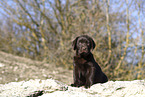
[[[52,78],[69,85],[73,82],[72,72],[72,70],[54,64],[34,61],[0,51],[0,84]]]

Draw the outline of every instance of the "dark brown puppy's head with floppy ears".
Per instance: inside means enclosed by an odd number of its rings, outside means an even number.
[[[73,41],[73,49],[77,51],[78,55],[88,55],[90,50],[95,48],[94,40],[88,35],[81,35],[76,37]]]

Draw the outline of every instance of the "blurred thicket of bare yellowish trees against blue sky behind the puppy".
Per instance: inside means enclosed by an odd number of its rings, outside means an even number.
[[[111,80],[145,78],[144,0],[1,0],[0,50],[72,69],[88,34]]]

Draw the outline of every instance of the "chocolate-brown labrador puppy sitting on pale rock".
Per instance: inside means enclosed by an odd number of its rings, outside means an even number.
[[[95,61],[91,50],[95,48],[95,42],[88,35],[76,37],[73,41],[74,56],[74,83],[71,86],[85,86],[89,88],[96,83],[105,83],[107,76],[102,72],[100,66]]]

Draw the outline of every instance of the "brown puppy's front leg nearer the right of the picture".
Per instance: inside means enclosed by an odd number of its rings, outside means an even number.
[[[94,74],[95,74],[95,68],[90,67],[87,70],[86,74],[86,83],[85,83],[85,88],[90,88],[91,85],[94,83]]]

